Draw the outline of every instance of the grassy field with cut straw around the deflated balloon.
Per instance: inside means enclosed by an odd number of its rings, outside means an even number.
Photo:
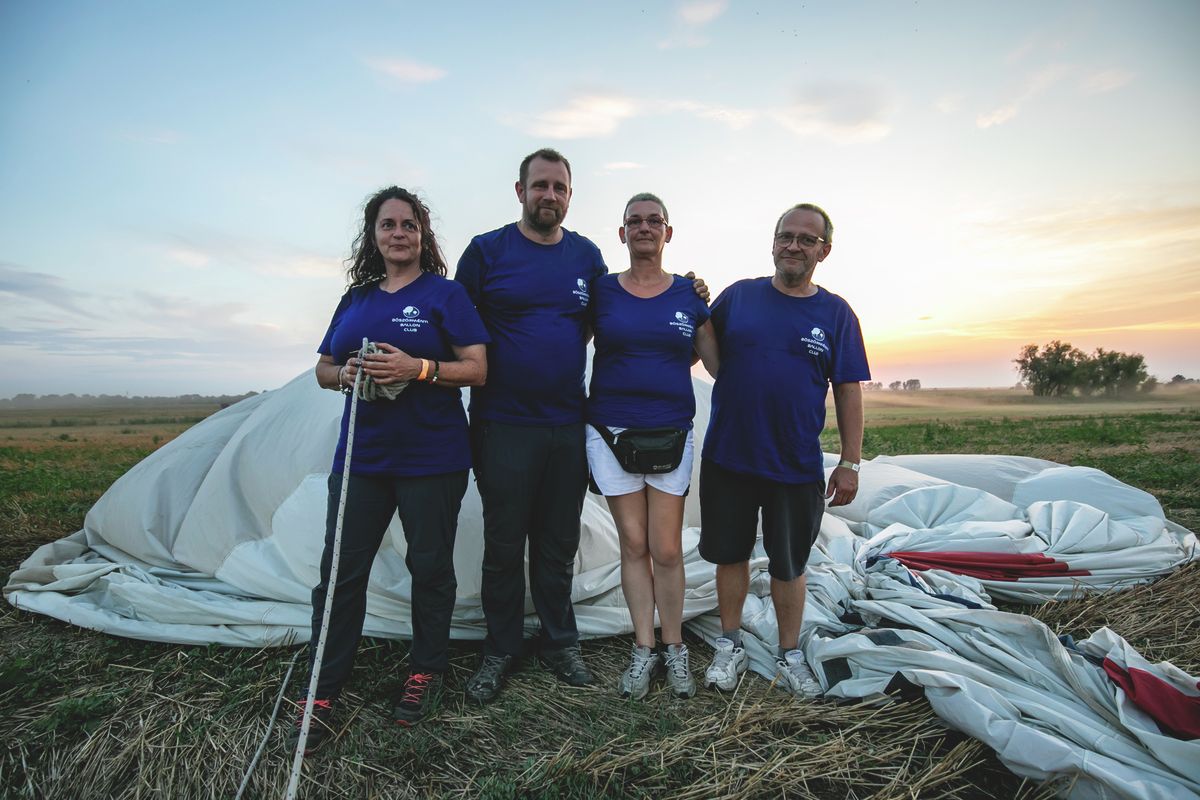
[[[866,398],[866,457],[1004,452],[1098,467],[1200,529],[1200,392],[1121,403],[968,390]],[[212,410],[0,417],[0,572],[79,529],[113,480]],[[828,435],[826,449],[835,450]],[[1193,565],[1157,584],[1033,613],[1075,636],[1110,625],[1148,660],[1196,674],[1198,577]],[[407,643],[366,640],[343,696],[344,730],[307,764],[302,796],[1051,794],[944,729],[924,700],[884,709],[799,703],[750,679],[732,696],[701,692],[680,703],[654,692],[623,702],[610,687],[629,646],[629,637],[584,643],[601,680],[595,688],[566,691],[528,668],[498,703],[478,709],[461,700],[478,645],[456,645],[438,717],[404,730],[388,721],[385,698],[402,678]],[[707,645],[691,646],[696,663],[707,663]],[[296,652],[119,639],[5,603],[0,796],[233,796]],[[288,697],[302,691],[299,672]],[[277,732],[246,796],[282,796],[289,765]]]

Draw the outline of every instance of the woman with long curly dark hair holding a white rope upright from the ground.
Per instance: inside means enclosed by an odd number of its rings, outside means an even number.
[[[398,512],[412,575],[409,675],[392,715],[418,722],[448,667],[457,583],[454,540],[467,491],[470,446],[460,386],[482,385],[487,331],[467,291],[445,277],[430,211],[397,186],[367,200],[342,295],[317,361],[317,383],[350,392],[361,369],[337,584],[306,752],[330,735],[334,704],[350,674],[366,615],[367,579]],[[362,339],[371,347],[359,353]],[[368,386],[364,390],[362,386]],[[312,590],[310,675],[329,587],[346,459],[350,397],[329,476],[320,583]],[[299,736],[299,726],[293,741]]]

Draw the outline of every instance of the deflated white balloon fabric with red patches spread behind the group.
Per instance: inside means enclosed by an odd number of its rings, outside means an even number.
[[[698,452],[710,385],[696,380],[695,389]],[[212,415],[118,480],[83,530],[38,548],[5,597],[139,639],[306,640],[341,413],[342,397],[305,373]],[[826,462],[832,469],[836,456]],[[684,614],[712,640],[720,621],[714,567],[696,551],[698,459],[692,477]],[[1153,497],[1094,469],[1018,456],[880,456],[863,464],[854,503],[826,515],[802,639],[828,696],[881,700],[899,686],[920,687],[943,720],[1015,772],[1061,781],[1073,796],[1196,796],[1200,739],[1187,736],[1193,722],[1200,730],[1195,676],[1146,663],[1106,628],[1062,643],[992,604],[1120,589],[1195,558],[1195,535],[1168,522]],[[481,563],[472,483],[455,545],[455,638],[484,636]],[[755,670],[773,676],[778,627],[766,566],[760,543],[743,631]],[[371,575],[367,636],[410,636],[410,589],[394,518]],[[594,494],[572,600],[584,636],[632,630],[616,528]],[[526,613],[533,636],[528,601]],[[1147,699],[1160,699],[1159,690],[1183,709],[1182,721]]]

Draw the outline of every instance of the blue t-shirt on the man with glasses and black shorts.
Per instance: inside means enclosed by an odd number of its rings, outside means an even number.
[[[871,378],[850,305],[820,287],[793,297],[749,278],[713,303],[713,327],[721,367],[703,457],[784,483],[823,480],[829,384]]]

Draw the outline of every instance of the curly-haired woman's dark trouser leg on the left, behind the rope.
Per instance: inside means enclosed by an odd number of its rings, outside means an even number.
[[[325,610],[329,573],[334,560],[334,533],[342,476],[329,476],[329,506],[325,515],[325,549],[320,557],[320,583],[312,590],[312,639],[308,645],[308,674],[317,657],[320,620]],[[330,610],[329,633],[322,655],[317,699],[334,699],[342,690],[354,666],[354,651],[362,637],[367,610],[367,581],[379,542],[396,511],[388,481],[350,476],[342,519],[342,547],[337,565],[337,585]]]

